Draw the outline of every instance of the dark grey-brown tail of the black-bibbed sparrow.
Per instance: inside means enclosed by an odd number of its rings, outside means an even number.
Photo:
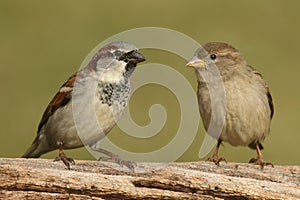
[[[46,140],[42,135],[38,135],[21,158],[38,158],[42,154],[51,151],[49,145],[45,141]]]

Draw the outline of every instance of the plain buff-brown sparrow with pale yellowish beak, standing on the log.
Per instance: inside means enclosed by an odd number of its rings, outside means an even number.
[[[274,113],[272,96],[261,74],[247,64],[241,53],[233,46],[222,42],[210,42],[199,48],[194,57],[187,63],[193,67],[198,80],[198,104],[200,115],[206,131],[208,130],[212,115],[212,102],[220,103],[221,98],[211,101],[211,88],[217,88],[212,76],[213,66],[216,66],[225,95],[224,123],[217,133],[208,133],[218,140],[215,152],[209,161],[219,164],[224,158],[218,157],[221,143],[228,142],[233,146],[248,146],[256,149],[257,158],[252,158],[250,163],[265,165],[272,163],[264,162],[261,154],[263,146],[261,142],[269,134],[271,119]],[[205,80],[204,76],[208,77]],[[225,102],[224,102],[225,101]],[[222,112],[220,112],[222,114]],[[226,160],[225,160],[226,161]]]

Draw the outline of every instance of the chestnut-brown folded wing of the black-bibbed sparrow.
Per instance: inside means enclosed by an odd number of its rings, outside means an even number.
[[[78,73],[72,75],[62,86],[61,88],[71,88],[70,90],[65,91],[58,91],[56,95],[53,97],[53,99],[50,101],[49,105],[47,106],[46,110],[44,111],[44,114],[42,116],[42,119],[38,126],[37,133],[40,132],[42,127],[45,125],[45,123],[48,121],[49,117],[53,115],[53,113],[60,107],[65,106],[70,100],[71,100],[71,93],[73,90],[73,85],[78,77]]]

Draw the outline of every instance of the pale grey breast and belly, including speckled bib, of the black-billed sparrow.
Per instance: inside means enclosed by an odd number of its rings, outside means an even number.
[[[53,145],[57,141],[63,141],[64,148],[94,143],[122,116],[129,100],[129,84],[90,85],[94,84],[78,85],[72,101],[50,117],[43,131],[55,135],[55,140],[50,141]]]

